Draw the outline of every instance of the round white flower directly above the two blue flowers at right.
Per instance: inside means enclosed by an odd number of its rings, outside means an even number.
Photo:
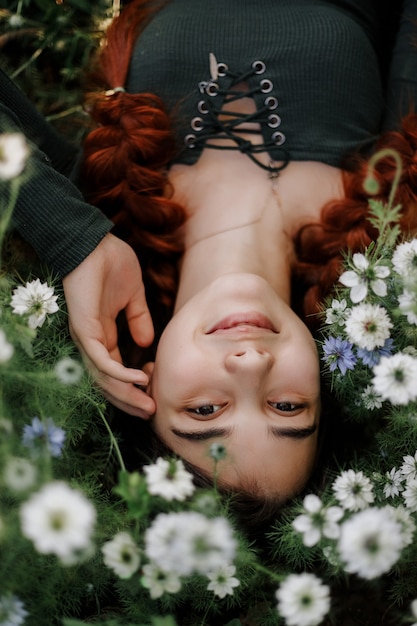
[[[390,336],[392,322],[378,304],[353,307],[346,319],[345,330],[351,343],[365,350],[381,348]]]

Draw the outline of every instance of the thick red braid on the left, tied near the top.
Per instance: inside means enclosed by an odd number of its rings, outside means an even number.
[[[157,96],[117,89],[126,84],[134,43],[155,11],[149,4],[133,0],[124,7],[95,59],[89,76],[95,91],[86,100],[95,128],[84,142],[82,184],[86,198],[115,223],[113,232],[136,250],[151,300],[172,308],[185,211],[167,186],[171,122]]]

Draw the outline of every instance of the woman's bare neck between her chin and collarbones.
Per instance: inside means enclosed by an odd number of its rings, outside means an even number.
[[[253,194],[236,189],[234,201],[223,187],[223,200],[214,194],[214,202],[203,201],[188,220],[176,310],[219,276],[233,273],[264,278],[290,302],[293,245],[272,183],[265,177]]]

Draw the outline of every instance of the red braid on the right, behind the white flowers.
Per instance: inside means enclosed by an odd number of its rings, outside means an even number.
[[[399,131],[381,136],[375,152],[385,148],[394,150],[402,162],[394,203],[402,207],[400,226],[407,235],[417,231],[416,114],[409,114]],[[374,178],[379,190],[372,196],[365,190],[368,175],[368,161],[358,157],[353,170],[343,172],[345,197],[327,203],[322,209],[320,223],[309,224],[298,233],[294,272],[305,289],[304,316],[313,327],[320,304],[337,283],[346,251],[363,252],[377,236],[368,220],[369,199],[387,202],[396,175],[395,160],[386,155],[377,161]]]

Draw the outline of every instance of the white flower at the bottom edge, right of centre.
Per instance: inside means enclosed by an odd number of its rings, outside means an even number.
[[[330,609],[329,587],[314,574],[291,574],[276,592],[278,611],[288,626],[316,626]]]

